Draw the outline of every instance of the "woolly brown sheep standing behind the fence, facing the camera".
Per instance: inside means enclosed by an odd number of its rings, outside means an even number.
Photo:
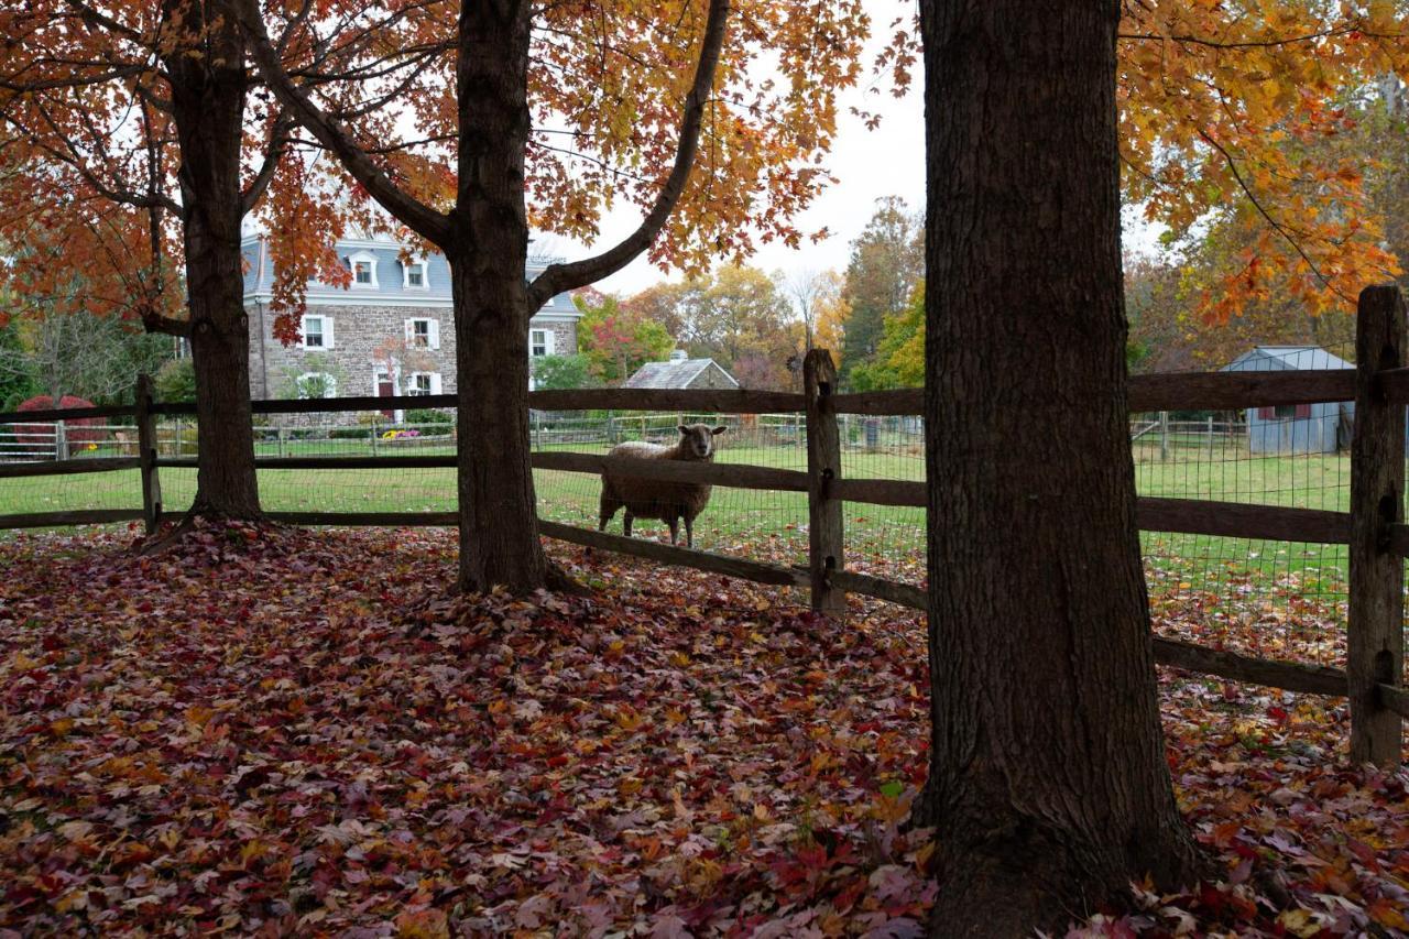
[[[635,460],[683,460],[688,462],[714,461],[714,436],[727,427],[709,424],[678,424],[681,438],[674,447],[628,441],[612,447],[609,457],[631,457]],[[604,532],[607,522],[617,509],[626,509],[621,516],[621,532],[631,537],[631,522],[659,519],[671,526],[671,544],[679,539],[679,520],[685,519],[685,547],[695,547],[695,519],[709,503],[709,485],[699,482],[664,482],[624,475],[617,470],[602,474],[602,508],[597,532]]]

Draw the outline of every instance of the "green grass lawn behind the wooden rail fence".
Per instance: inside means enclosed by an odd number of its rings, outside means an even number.
[[[548,450],[606,453],[607,444],[558,444]],[[275,455],[276,444],[259,444],[261,455]],[[368,455],[359,440],[286,441],[283,455]],[[447,454],[448,446],[387,447],[379,454]],[[1344,510],[1350,495],[1350,460],[1339,455],[1258,457],[1233,447],[1179,447],[1165,462],[1150,448],[1137,448],[1136,481],[1141,495],[1227,502],[1285,505]],[[800,446],[728,446],[720,461],[802,470]],[[848,477],[920,479],[923,455],[907,451],[845,450]],[[194,470],[161,472],[168,510],[187,508],[194,493]],[[599,482],[595,477],[561,471],[535,472],[544,517],[596,526]],[[261,498],[268,510],[323,512],[445,512],[455,508],[454,470],[261,471]],[[0,513],[65,509],[137,508],[135,471],[37,477],[0,482]],[[923,567],[923,510],[847,505],[847,550],[858,567]],[[696,529],[696,546],[800,563],[806,556],[806,496],[797,492],[759,492],[716,488]],[[617,515],[612,530],[619,532]],[[664,534],[659,523],[641,522],[638,530]],[[1216,592],[1241,589],[1248,579],[1282,584],[1301,592],[1343,594],[1343,547],[1248,541],[1193,534],[1146,533],[1146,556],[1155,571],[1188,579]],[[1074,544],[1079,537],[1074,534]]]

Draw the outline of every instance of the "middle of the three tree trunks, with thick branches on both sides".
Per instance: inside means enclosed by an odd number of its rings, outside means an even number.
[[[528,465],[530,6],[461,4],[459,197],[448,245],[459,391],[459,588],[545,585]]]

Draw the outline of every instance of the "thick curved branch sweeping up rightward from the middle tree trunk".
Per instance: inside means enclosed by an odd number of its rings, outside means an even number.
[[[248,0],[245,1],[248,3]],[[564,290],[586,286],[616,274],[651,247],[655,235],[665,227],[666,220],[675,211],[676,203],[679,203],[681,196],[685,193],[685,183],[689,180],[690,169],[695,165],[704,104],[709,102],[710,89],[714,85],[714,69],[719,65],[720,51],[724,47],[727,23],[728,0],[710,0],[699,65],[695,69],[695,83],[690,86],[690,93],[685,99],[685,110],[681,114],[681,140],[675,149],[675,165],[671,168],[671,175],[665,180],[665,186],[657,195],[651,211],[641,220],[641,226],[616,247],[596,257],[572,264],[550,265],[547,271],[528,285],[530,310],[537,310]]]

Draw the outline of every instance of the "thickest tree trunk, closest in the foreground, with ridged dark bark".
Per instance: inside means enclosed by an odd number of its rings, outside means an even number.
[[[933,933],[1192,878],[1127,440],[1115,0],[921,0]]]

